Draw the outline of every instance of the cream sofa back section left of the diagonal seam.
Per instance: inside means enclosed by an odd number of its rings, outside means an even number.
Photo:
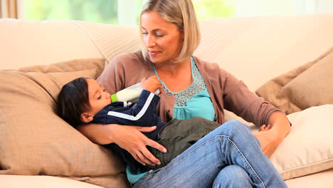
[[[0,19],[0,68],[44,65],[76,58],[102,58],[72,21]]]

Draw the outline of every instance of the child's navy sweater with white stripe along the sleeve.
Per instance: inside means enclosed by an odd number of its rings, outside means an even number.
[[[159,103],[159,96],[148,90],[142,90],[139,100],[137,103],[129,102],[114,102],[110,105],[105,106],[100,112],[98,112],[93,122],[100,124],[119,124],[119,125],[134,125],[141,127],[152,127],[157,126],[157,129],[153,132],[144,132],[144,135],[152,140],[157,140],[159,130],[166,125],[161,118],[155,114],[155,110]],[[131,172],[137,172],[137,167],[140,164],[132,155],[123,150],[121,147],[112,143],[106,145],[111,150],[117,152],[118,155],[129,165]]]

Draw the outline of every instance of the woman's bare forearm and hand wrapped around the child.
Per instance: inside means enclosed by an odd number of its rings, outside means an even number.
[[[88,124],[78,127],[78,130],[92,142],[100,145],[116,143],[141,164],[159,165],[161,162],[149,152],[146,146],[149,145],[161,152],[166,152],[165,147],[142,134],[142,132],[152,132],[155,129],[156,126],[137,127],[116,124]]]

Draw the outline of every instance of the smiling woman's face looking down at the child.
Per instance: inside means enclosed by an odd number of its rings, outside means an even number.
[[[163,19],[157,11],[149,11],[141,16],[141,28],[150,61],[163,63],[179,56],[184,33],[176,24]]]

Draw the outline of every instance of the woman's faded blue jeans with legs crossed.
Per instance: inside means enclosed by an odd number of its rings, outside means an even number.
[[[287,187],[248,125],[224,123],[133,187]]]

